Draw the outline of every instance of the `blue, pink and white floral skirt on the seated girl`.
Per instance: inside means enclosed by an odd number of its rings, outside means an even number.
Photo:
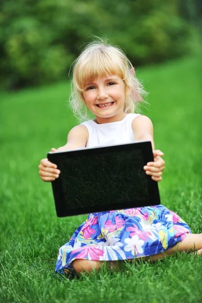
[[[189,226],[162,205],[90,214],[60,248],[56,272],[72,270],[75,259],[115,261],[155,255],[188,233]]]

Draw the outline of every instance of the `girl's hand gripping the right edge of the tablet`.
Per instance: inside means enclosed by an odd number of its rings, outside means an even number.
[[[161,181],[162,180],[162,172],[165,169],[165,161],[161,158],[164,156],[164,153],[159,149],[153,150],[153,158],[154,162],[148,162],[147,165],[143,167],[146,171],[147,175],[151,176],[151,179],[154,181]]]

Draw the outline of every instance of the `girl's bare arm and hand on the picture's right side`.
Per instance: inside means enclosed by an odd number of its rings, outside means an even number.
[[[151,120],[146,116],[138,116],[132,121],[132,129],[134,131],[134,140],[149,140],[151,141],[154,162],[148,162],[143,167],[147,175],[150,175],[154,181],[162,180],[162,172],[165,169],[165,161],[160,157],[164,153],[159,149],[154,150],[153,142],[153,125]]]

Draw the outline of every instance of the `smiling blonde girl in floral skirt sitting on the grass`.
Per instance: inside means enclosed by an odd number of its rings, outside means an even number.
[[[57,150],[113,145],[150,140],[154,162],[144,166],[146,174],[161,181],[164,154],[154,149],[149,118],[134,114],[135,103],[145,92],[125,54],[105,41],[91,43],[74,63],[71,105],[74,114],[94,114],[70,130],[67,143]],[[55,151],[55,148],[51,149]],[[59,177],[57,166],[43,159],[39,175],[43,181]],[[154,201],[155,205],[155,201]],[[202,251],[202,234],[191,234],[189,226],[166,207],[94,213],[74,232],[58,255],[56,272],[98,270],[104,261],[143,258],[155,261],[176,251]]]

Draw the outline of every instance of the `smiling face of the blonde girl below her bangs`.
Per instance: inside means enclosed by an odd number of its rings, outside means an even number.
[[[83,97],[99,124],[124,118],[125,84],[116,75],[96,77],[86,83]]]

